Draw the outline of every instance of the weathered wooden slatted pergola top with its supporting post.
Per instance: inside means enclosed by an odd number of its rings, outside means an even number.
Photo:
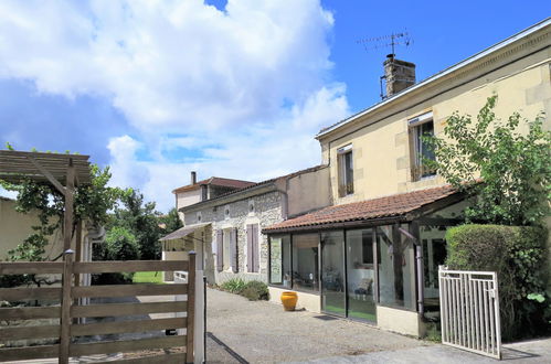
[[[65,197],[63,226],[73,226],[75,184],[92,183],[88,158],[88,156],[78,154],[0,150],[0,180],[9,183],[31,180],[52,184]],[[72,229],[64,228],[64,260],[66,260],[67,254],[74,253],[71,250],[71,239]],[[76,244],[77,259],[80,248],[80,244]],[[65,285],[65,278],[63,285]]]

